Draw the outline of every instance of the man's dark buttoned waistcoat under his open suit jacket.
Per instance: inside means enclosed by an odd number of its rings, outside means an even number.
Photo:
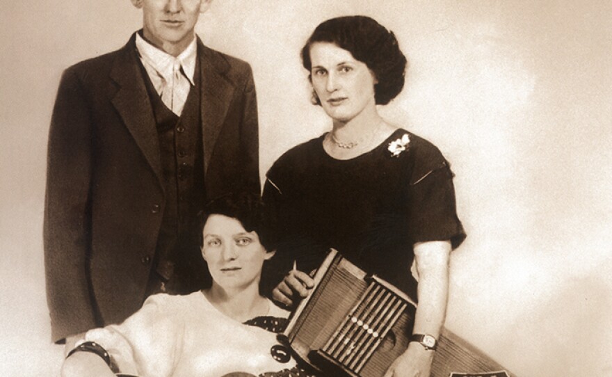
[[[175,264],[182,262],[187,240],[197,236],[197,214],[203,207],[204,166],[202,129],[200,125],[200,67],[195,67],[191,86],[181,116],[172,113],[142,67],[147,92],[151,99],[159,136],[161,165],[163,168],[165,202],[163,219],[157,239],[154,260],[155,271],[162,281],[172,278]],[[189,252],[198,252],[189,250]]]

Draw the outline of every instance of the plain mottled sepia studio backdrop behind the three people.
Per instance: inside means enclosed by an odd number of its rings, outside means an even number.
[[[1,1],[0,372],[56,376],[42,252],[47,132],[61,72],[142,25],[129,0]],[[329,129],[299,51],[319,22],[392,29],[406,85],[380,111],[456,174],[468,237],[446,326],[517,376],[612,376],[612,2],[216,0],[204,43],[251,63],[261,176]]]

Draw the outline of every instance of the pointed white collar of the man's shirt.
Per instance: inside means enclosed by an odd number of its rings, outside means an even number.
[[[195,85],[193,81],[193,75],[195,74],[195,56],[198,51],[197,38],[193,38],[191,43],[183,50],[176,58],[166,51],[158,49],[154,45],[151,45],[140,33],[136,33],[136,48],[138,54],[147,64],[151,65],[162,77],[169,77],[172,75],[172,67],[175,62],[178,62],[183,68],[183,72],[191,85]]]

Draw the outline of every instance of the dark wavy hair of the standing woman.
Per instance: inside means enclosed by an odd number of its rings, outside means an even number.
[[[308,72],[312,69],[310,47],[315,42],[334,43],[374,72],[378,80],[374,85],[376,104],[388,104],[401,92],[406,58],[394,33],[376,20],[367,16],[346,16],[328,19],[316,26],[302,49],[302,64]],[[316,94],[314,97],[314,103],[320,105]]]

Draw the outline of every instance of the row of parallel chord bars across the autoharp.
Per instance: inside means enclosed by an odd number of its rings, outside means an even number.
[[[407,305],[373,280],[321,351],[359,373]]]

